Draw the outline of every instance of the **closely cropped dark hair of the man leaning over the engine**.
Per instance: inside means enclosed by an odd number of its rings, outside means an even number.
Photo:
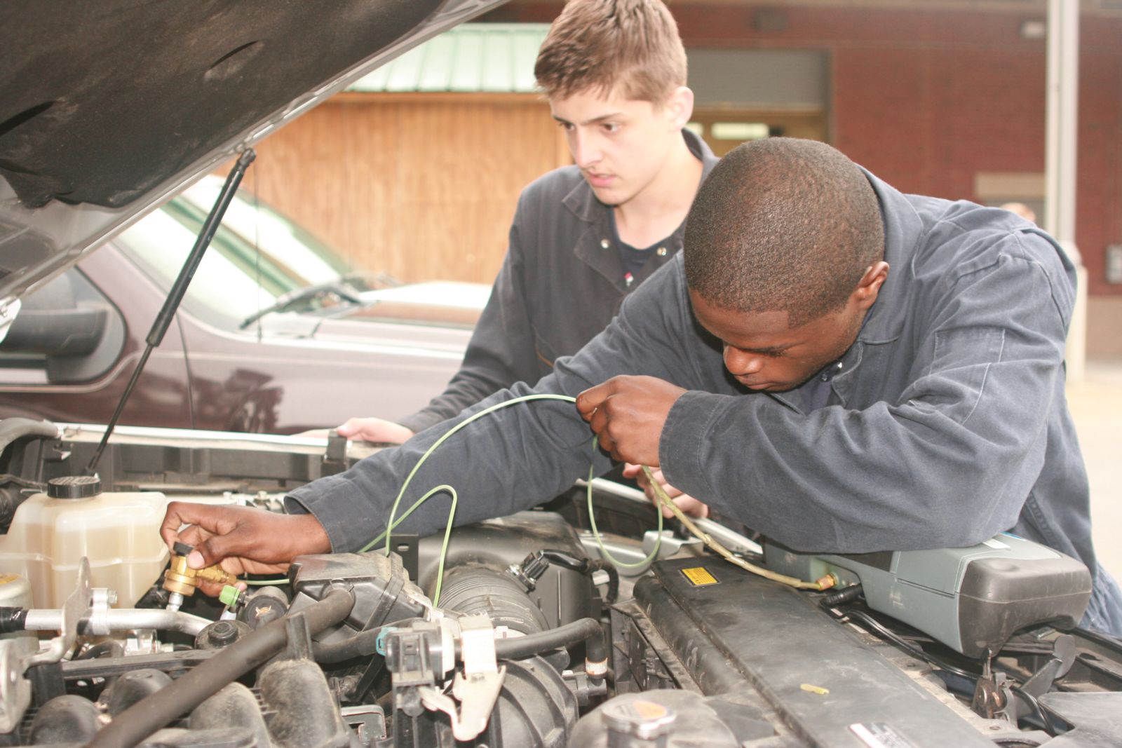
[[[798,327],[840,308],[884,257],[880,202],[861,168],[815,140],[765,138],[720,159],[682,248],[692,292]]]

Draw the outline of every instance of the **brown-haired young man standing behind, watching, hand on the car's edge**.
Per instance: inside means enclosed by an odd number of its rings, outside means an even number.
[[[523,191],[503,267],[444,393],[392,423],[339,433],[404,442],[516,381],[534,382],[607,325],[631,290],[678,253],[709,148],[693,111],[686,50],[661,0],[570,0],[534,66],[573,166]]]

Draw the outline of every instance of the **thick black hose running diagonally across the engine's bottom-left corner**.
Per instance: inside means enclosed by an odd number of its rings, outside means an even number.
[[[335,588],[300,613],[306,617],[309,634],[314,635],[343,620],[353,606],[353,593]],[[227,684],[268,661],[285,646],[287,638],[284,618],[255,629],[114,717],[86,744],[86,748],[134,748],[172,720],[191,712]]]

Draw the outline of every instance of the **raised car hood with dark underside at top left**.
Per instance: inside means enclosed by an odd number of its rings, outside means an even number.
[[[502,1],[2,3],[0,326],[190,182]]]

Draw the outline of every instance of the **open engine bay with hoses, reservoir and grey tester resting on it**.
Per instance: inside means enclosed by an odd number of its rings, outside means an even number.
[[[1089,576],[1019,538],[858,557],[656,536],[637,491],[594,481],[595,516],[574,487],[215,601],[197,585],[234,580],[163,546],[167,501],[279,511],[368,449],[122,427],[84,477],[101,433],[0,423],[0,745],[1122,745],[1122,646],[1075,628]]]

